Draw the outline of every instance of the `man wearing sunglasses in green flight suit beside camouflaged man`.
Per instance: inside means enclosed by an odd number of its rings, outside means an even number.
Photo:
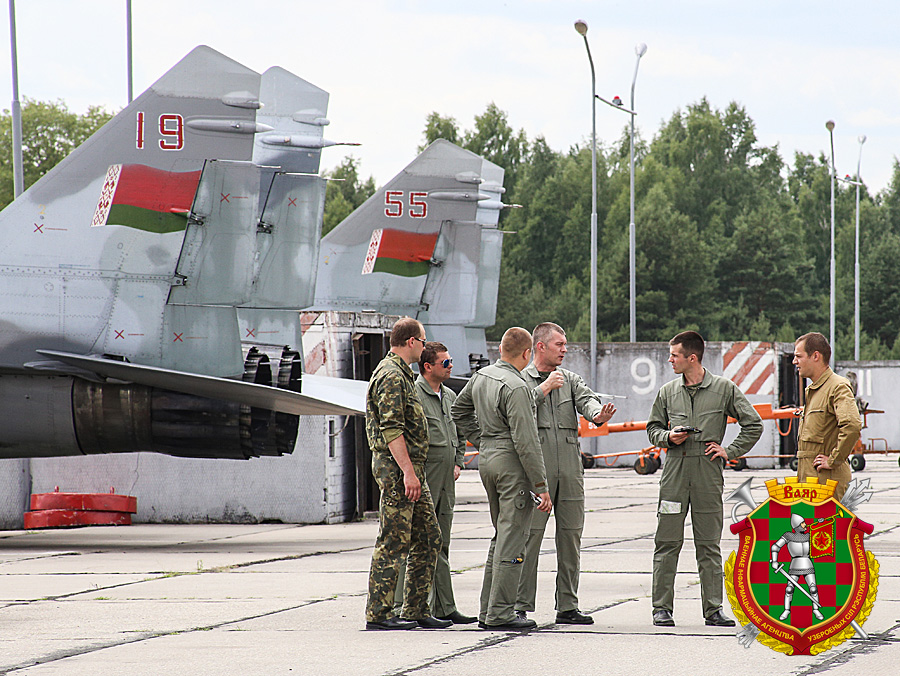
[[[434,569],[429,605],[434,617],[450,620],[453,624],[471,624],[477,618],[463,615],[456,609],[450,578],[450,530],[453,527],[453,507],[456,505],[456,480],[466,456],[466,439],[457,431],[450,414],[456,393],[444,385],[452,372],[453,359],[447,346],[437,342],[427,343],[419,357],[416,394],[428,419],[425,480],[441,527],[441,552]],[[395,608],[403,601],[404,577],[405,566],[401,568],[397,581]]]

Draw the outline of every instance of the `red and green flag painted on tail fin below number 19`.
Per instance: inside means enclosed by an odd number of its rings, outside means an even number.
[[[199,184],[199,171],[114,164],[106,172],[91,227],[125,225],[158,233],[184,230]]]

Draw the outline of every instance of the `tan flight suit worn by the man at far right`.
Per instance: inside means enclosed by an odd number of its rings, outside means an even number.
[[[834,499],[844,497],[850,484],[847,458],[859,439],[862,421],[850,381],[830,368],[806,387],[806,405],[797,431],[797,478],[834,479],[838,482]],[[817,455],[828,456],[831,469],[817,469]]]

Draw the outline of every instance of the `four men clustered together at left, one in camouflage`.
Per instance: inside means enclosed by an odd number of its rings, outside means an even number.
[[[479,449],[494,526],[479,626],[536,626],[527,613],[534,610],[537,557],[554,504],[557,622],[593,623],[577,598],[584,526],[578,414],[602,424],[615,407],[599,403],[580,376],[559,368],[565,353],[565,332],[556,324],[539,325],[534,337],[512,328],[500,342],[500,359],[478,371],[457,399],[443,385],[452,369],[447,348],[428,342],[414,319],[394,325],[391,351],[376,367],[366,398],[366,434],[381,489],[367,629],[476,620],[456,609],[447,559],[453,481],[466,439]],[[409,366],[414,361],[417,379]]]

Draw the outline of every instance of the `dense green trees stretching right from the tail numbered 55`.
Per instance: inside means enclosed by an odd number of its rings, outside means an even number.
[[[497,323],[555,321],[590,336],[590,143],[567,151],[514,131],[493,103],[470,130],[434,112],[426,145],[446,138],[506,170]],[[600,340],[628,340],[629,136],[597,148]],[[703,99],[635,140],[637,339],[694,329],[710,340],[792,342],[828,334],[830,180],[824,155],[788,165],[737,103]],[[853,357],[855,187],[836,188],[836,354]],[[900,164],[860,197],[862,359],[900,358]]]

